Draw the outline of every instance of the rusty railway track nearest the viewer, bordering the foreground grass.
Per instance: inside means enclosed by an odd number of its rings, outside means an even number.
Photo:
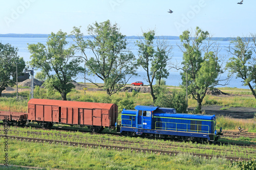
[[[0,135],[0,137],[5,138],[5,135]],[[95,144],[95,143],[82,143],[82,142],[71,142],[71,141],[62,141],[62,140],[52,140],[52,139],[41,139],[41,138],[29,138],[29,137],[19,137],[19,136],[8,136],[9,139],[16,139],[19,141],[27,141],[27,142],[40,142],[40,143],[54,143],[54,144],[65,144],[71,146],[80,146],[85,148],[100,148],[100,149],[107,149],[107,150],[116,150],[116,151],[123,151],[129,150],[131,152],[142,152],[142,153],[154,153],[154,154],[162,154],[162,155],[170,155],[176,156],[181,152],[176,151],[164,151],[164,150],[155,150],[155,149],[143,149],[143,148],[133,148],[133,147],[121,147],[112,144]],[[207,154],[197,154],[197,153],[189,153],[194,156],[204,157],[207,159],[211,158],[225,158],[229,161],[248,161],[251,159],[248,158],[240,158],[240,157],[223,157],[217,155],[207,155]]]

